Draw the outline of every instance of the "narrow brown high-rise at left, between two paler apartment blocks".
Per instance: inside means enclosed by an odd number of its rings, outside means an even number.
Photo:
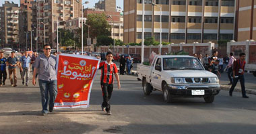
[[[30,48],[32,31],[32,2],[34,0],[20,0],[19,27],[20,48]],[[34,41],[34,40],[32,40]]]

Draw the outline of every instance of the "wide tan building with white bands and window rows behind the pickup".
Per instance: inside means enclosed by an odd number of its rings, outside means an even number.
[[[144,0],[144,38],[172,43],[234,40],[235,0]],[[152,5],[156,3],[157,6]],[[162,7],[162,13],[160,7]],[[124,1],[124,42],[141,42],[142,0]]]

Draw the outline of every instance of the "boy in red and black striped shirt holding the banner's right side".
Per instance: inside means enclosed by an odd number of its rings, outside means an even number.
[[[109,100],[113,92],[113,77],[117,79],[118,88],[121,88],[117,66],[112,62],[113,53],[106,53],[106,61],[100,63],[99,69],[101,69],[100,85],[102,88],[103,103],[101,105],[102,111],[106,111],[107,115],[111,115]]]

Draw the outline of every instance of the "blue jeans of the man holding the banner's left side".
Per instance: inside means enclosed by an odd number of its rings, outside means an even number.
[[[42,113],[48,113],[48,92],[50,94],[49,108],[54,107],[55,98],[57,96],[57,80],[38,80],[41,99],[42,99]]]

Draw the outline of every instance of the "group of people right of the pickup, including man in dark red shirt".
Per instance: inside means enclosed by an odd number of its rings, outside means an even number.
[[[209,70],[219,77],[221,76],[221,73],[226,70],[228,73],[228,79],[230,80],[230,83],[228,84],[232,84],[229,91],[230,96],[232,96],[234,87],[238,80],[240,80],[243,98],[249,98],[245,91],[245,53],[241,53],[238,60],[234,58],[234,54],[232,52],[229,57],[226,56],[225,58],[222,56],[218,58],[218,51],[214,51],[214,54],[211,57],[208,56],[208,54],[205,54],[204,58],[202,58],[202,54],[199,54],[199,56],[197,56],[197,54],[193,54],[193,56],[201,62],[205,70]]]

